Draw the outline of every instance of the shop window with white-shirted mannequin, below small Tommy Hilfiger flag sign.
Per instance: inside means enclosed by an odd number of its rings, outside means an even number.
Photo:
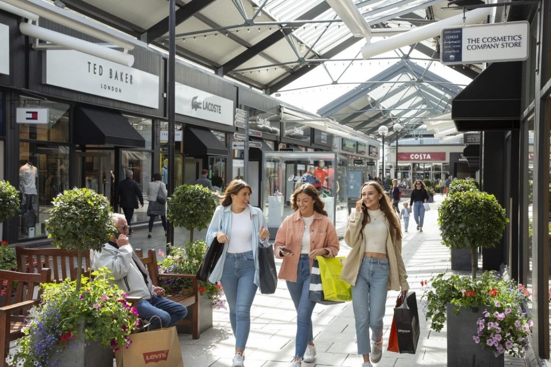
[[[19,143],[19,238],[46,235],[52,200],[69,188],[69,147]]]

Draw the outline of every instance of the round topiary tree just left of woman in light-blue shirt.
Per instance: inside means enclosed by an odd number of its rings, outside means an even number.
[[[168,201],[166,218],[190,231],[190,242],[193,242],[193,230],[208,227],[216,206],[216,197],[207,187],[181,185],[175,188]]]

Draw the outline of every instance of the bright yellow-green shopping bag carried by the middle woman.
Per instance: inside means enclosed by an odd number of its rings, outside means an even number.
[[[323,296],[329,301],[352,301],[352,289],[350,284],[341,279],[344,256],[341,257],[316,257],[320,264],[321,287]]]

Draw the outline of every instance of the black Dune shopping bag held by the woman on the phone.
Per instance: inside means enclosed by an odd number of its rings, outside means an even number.
[[[419,314],[415,292],[409,292],[401,305],[394,309],[398,349],[400,353],[415,354],[419,341]]]

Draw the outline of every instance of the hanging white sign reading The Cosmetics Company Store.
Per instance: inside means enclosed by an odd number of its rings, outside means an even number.
[[[527,21],[445,27],[440,31],[440,62],[523,61],[528,58],[529,35]]]

